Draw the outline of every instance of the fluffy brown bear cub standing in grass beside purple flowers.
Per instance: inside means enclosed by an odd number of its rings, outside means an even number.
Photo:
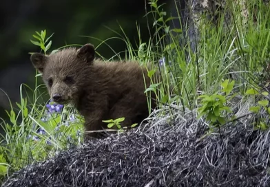
[[[102,120],[122,117],[121,126],[140,124],[149,115],[144,93],[150,85],[147,69],[135,62],[105,63],[94,56],[94,46],[86,44],[48,56],[34,53],[30,59],[42,74],[51,99],[73,104],[85,118],[86,131],[106,129]],[[151,103],[152,109],[156,107],[155,99]]]

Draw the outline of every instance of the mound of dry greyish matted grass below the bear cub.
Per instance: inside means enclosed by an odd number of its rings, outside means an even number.
[[[254,115],[205,135],[194,114],[160,109],[146,126],[63,151],[3,186],[270,186],[269,130],[253,131]]]

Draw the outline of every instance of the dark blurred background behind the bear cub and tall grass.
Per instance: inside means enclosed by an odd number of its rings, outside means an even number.
[[[183,1],[176,0],[176,2],[183,5]],[[140,27],[143,42],[148,42],[150,34],[154,33],[152,27],[154,17],[152,14],[146,17],[150,10],[148,3],[148,0],[0,1],[0,118],[8,117],[5,112],[10,110],[8,97],[14,107],[16,107],[14,102],[20,101],[22,83],[34,89],[35,69],[30,63],[29,52],[40,51],[38,46],[30,42],[35,31],[46,30],[47,36],[54,33],[51,51],[64,45],[93,43],[96,46],[105,39],[118,36],[112,30],[123,34],[121,31],[123,28],[136,49],[138,45],[136,23]],[[168,14],[173,13],[177,16],[174,0],[158,0],[158,5],[163,3],[165,3],[163,8]],[[176,24],[179,25],[177,21]],[[125,43],[119,39],[110,39],[107,44],[116,53],[126,50]],[[107,45],[98,47],[98,53],[105,58],[111,58],[115,52]]]

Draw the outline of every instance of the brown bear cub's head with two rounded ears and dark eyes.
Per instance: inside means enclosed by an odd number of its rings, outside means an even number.
[[[95,50],[85,44],[79,50],[66,48],[54,54],[34,53],[30,60],[41,74],[52,101],[59,104],[76,103],[90,74]]]

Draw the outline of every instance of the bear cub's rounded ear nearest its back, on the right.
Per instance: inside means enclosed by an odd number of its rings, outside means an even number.
[[[87,63],[92,63],[94,61],[94,45],[87,43],[83,45],[79,50],[77,50],[77,57],[83,59]]]

